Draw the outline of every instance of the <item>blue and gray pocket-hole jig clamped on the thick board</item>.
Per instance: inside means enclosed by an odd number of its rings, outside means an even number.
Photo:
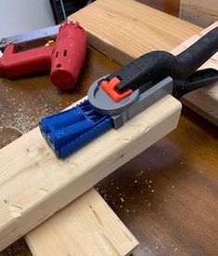
[[[59,158],[66,158],[110,128],[121,128],[127,120],[173,91],[173,79],[167,77],[146,91],[136,89],[122,101],[114,102],[100,87],[105,77],[89,88],[88,100],[40,121],[42,135]]]

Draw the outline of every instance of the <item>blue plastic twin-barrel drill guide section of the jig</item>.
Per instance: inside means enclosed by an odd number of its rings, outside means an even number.
[[[39,127],[55,154],[65,158],[113,126],[109,115],[96,113],[86,100],[70,110],[43,118]]]

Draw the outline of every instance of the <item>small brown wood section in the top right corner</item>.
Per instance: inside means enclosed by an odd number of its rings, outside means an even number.
[[[217,0],[180,0],[179,17],[201,27],[218,20]]]

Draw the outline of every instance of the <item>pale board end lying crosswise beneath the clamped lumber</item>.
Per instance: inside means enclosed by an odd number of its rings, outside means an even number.
[[[129,255],[138,245],[95,189],[58,211],[25,239],[34,256]]]

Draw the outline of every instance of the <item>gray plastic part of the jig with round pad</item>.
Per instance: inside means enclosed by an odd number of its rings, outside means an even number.
[[[142,93],[136,89],[129,97],[115,102],[100,86],[100,82],[107,76],[101,77],[89,88],[88,99],[96,112],[111,116],[115,129],[121,128],[127,120],[134,118],[167,94],[173,93],[173,78],[168,76]]]

